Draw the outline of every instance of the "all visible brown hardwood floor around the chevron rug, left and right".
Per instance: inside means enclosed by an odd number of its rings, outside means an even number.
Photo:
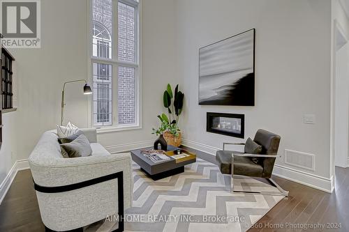
[[[193,151],[198,157],[216,163],[212,155]],[[336,190],[332,194],[282,178],[273,179],[290,191],[290,196],[267,212],[249,231],[349,231],[349,169],[336,168]],[[303,229],[300,225],[304,224],[325,228]],[[297,225],[298,228],[290,228]],[[0,231],[45,231],[30,170],[17,173],[0,205]]]

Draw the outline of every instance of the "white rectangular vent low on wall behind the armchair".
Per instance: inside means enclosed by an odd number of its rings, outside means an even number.
[[[315,155],[285,149],[285,164],[315,171]]]

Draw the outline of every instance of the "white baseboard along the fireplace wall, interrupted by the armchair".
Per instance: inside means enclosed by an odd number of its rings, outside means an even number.
[[[188,146],[189,148],[194,148],[196,150],[203,151],[210,155],[216,155],[217,150],[221,148],[215,148],[214,146],[207,146],[205,144],[198,143],[196,141],[191,141],[188,139],[182,139],[182,145]],[[348,159],[349,164],[349,159]],[[284,167],[279,164],[275,164],[273,175],[279,176],[286,180],[291,180],[296,183],[307,185],[313,187],[317,190],[322,190],[331,193],[334,190],[334,178],[324,178],[322,176],[316,176],[312,173],[306,173],[304,171],[299,171],[296,169],[291,169],[289,167]]]

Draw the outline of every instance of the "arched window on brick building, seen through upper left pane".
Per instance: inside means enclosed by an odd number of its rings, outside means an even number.
[[[92,40],[94,56],[112,59],[112,36],[100,22],[93,21]]]

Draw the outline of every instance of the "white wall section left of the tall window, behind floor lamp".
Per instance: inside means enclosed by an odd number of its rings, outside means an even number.
[[[29,157],[41,134],[59,123],[62,84],[87,78],[86,10],[83,0],[41,1],[41,48],[10,49],[18,82],[17,160]],[[86,127],[87,100],[80,86],[67,88],[66,118]]]

